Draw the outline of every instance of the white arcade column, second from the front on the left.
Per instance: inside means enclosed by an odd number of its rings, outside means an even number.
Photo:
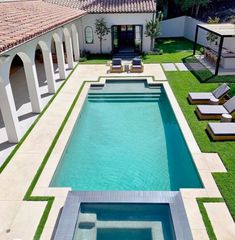
[[[40,113],[42,109],[41,96],[39,92],[38,76],[34,61],[24,63],[25,76],[29,90],[29,97],[34,113]]]

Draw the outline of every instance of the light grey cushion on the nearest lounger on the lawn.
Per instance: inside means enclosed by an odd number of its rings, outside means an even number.
[[[214,135],[235,135],[235,123],[209,123],[209,128]]]

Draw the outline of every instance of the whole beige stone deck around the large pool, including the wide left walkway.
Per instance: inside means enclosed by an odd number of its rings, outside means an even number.
[[[59,127],[61,126],[65,114],[68,112],[76,94],[78,93],[83,81],[96,81],[100,76],[103,77],[144,77],[153,76],[155,80],[165,84],[168,88],[171,104],[174,104],[178,120],[182,120],[183,134],[191,146],[193,158],[199,170],[199,174],[204,182],[205,189],[182,189],[181,196],[188,216],[189,225],[194,239],[209,239],[202,221],[196,197],[221,197],[220,192],[213,180],[211,172],[225,172],[219,156],[217,154],[201,153],[191,131],[185,121],[182,111],[179,108],[173,93],[166,81],[164,71],[159,64],[146,64],[142,74],[109,74],[108,67],[103,65],[79,65],[69,80],[66,82],[61,92],[57,95],[50,107],[40,118],[37,125],[26,138],[22,146],[18,149],[7,167],[0,175],[0,236],[2,239],[33,239],[34,233],[39,224],[40,218],[46,206],[46,202],[23,201],[37,170],[39,169],[47,151],[50,147]],[[58,139],[45,169],[33,191],[33,196],[55,196],[48,220],[46,222],[41,239],[50,239],[54,230],[54,225],[61,207],[64,205],[67,193],[70,189],[49,188],[48,183],[58,164],[61,152],[69,138],[73,124],[82,108],[82,102],[86,97],[89,84],[86,84],[80,95],[79,101],[75,104],[67,124]],[[175,105],[176,104],[176,105]],[[181,127],[182,127],[181,126]],[[214,203],[210,203],[213,206]],[[217,206],[215,203],[214,206]],[[209,208],[206,207],[208,210]],[[227,214],[227,207],[220,208],[221,211],[211,213],[212,225],[217,226],[217,218],[221,215],[226,216],[220,223],[221,229],[226,232],[216,231],[218,239],[235,239],[235,226],[231,221],[231,216]],[[30,223],[30,224],[29,224]],[[221,238],[222,237],[222,238]]]

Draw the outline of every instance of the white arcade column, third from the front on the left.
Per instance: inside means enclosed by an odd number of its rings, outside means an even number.
[[[56,84],[55,84],[55,78],[54,78],[54,69],[53,69],[51,51],[43,50],[43,60],[44,60],[44,68],[45,68],[47,85],[48,85],[48,92],[55,93]]]

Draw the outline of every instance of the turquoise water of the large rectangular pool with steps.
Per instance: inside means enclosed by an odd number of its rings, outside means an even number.
[[[163,87],[114,81],[89,91],[51,186],[179,190],[202,183]]]

